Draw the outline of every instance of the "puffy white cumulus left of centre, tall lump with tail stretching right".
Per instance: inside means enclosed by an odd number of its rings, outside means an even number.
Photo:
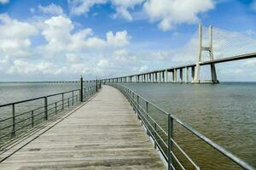
[[[65,29],[63,29],[65,28]],[[49,55],[57,54],[61,51],[82,52],[102,48],[119,48],[129,44],[127,31],[108,31],[106,39],[95,37],[90,28],[71,33],[73,22],[64,16],[54,16],[44,21],[42,35],[48,42],[41,47]]]

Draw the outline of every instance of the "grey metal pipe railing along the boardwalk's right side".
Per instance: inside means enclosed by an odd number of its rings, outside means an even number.
[[[194,128],[190,127],[187,123],[180,121],[176,116],[173,116],[171,113],[168,113],[164,110],[162,110],[159,106],[154,105],[152,102],[148,101],[147,99],[144,99],[142,96],[138,95],[137,93],[133,92],[129,88],[125,88],[124,86],[121,86],[116,83],[109,83],[109,85],[113,86],[114,88],[119,89],[119,91],[125,95],[125,98],[128,99],[128,101],[131,103],[132,108],[134,111],[136,111],[138,118],[142,121],[143,126],[146,127],[147,133],[151,136],[151,138],[154,140],[154,145],[158,147],[160,150],[160,153],[164,156],[166,162],[167,162],[167,169],[176,169],[175,167],[178,165],[179,168],[185,169],[182,162],[178,160],[178,157],[175,155],[173,147],[176,146],[177,150],[180,150],[180,152],[185,156],[185,158],[191,163],[195,169],[200,169],[200,167],[195,164],[195,161],[185,152],[185,150],[182,149],[182,147],[177,144],[177,142],[173,139],[173,122],[177,122],[179,125],[184,127],[189,131],[189,133],[194,134],[196,137],[201,139],[201,141],[205,142],[206,144],[212,146],[214,150],[218,150],[219,153],[224,155],[226,158],[230,159],[230,161],[233,161],[236,163],[237,166],[242,167],[243,169],[248,170],[255,170],[254,167],[249,165],[246,161],[241,160],[239,157],[232,154],[229,150],[224,149],[219,144],[216,144],[211,139],[208,139],[203,134],[196,131]],[[145,109],[143,108],[143,105],[140,104],[140,101],[143,101],[145,103]],[[154,107],[157,111],[160,111],[164,114],[167,118],[167,132],[160,127],[160,125],[157,123],[156,120],[148,113],[148,105]],[[153,122],[153,126],[150,123]],[[155,130],[155,127],[160,130],[160,133]],[[149,131],[149,132],[148,132]],[[157,138],[159,138],[159,140]],[[167,139],[167,144],[166,140]],[[163,144],[160,144],[163,143]],[[173,161],[177,162],[177,165],[175,166]]]

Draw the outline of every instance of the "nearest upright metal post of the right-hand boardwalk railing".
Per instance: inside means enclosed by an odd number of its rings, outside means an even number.
[[[173,165],[173,159],[172,159],[172,138],[173,138],[173,118],[171,114],[168,114],[168,150],[167,150],[167,156],[168,156],[168,170],[172,170]]]

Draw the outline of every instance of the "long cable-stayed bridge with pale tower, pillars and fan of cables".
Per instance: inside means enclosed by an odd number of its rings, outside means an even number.
[[[183,52],[189,51],[189,53],[183,53],[189,54],[183,58],[187,58],[192,63],[121,77],[105,78],[102,79],[102,82],[189,82],[190,76],[192,83],[218,83],[215,65],[255,58],[256,39],[237,32],[199,25],[198,33],[193,35],[186,48],[182,50]],[[192,61],[194,59],[196,60]],[[210,65],[211,78],[209,80],[201,80],[200,78],[201,66],[203,65]],[[183,70],[185,70],[184,79]],[[179,75],[178,78],[177,74]]]

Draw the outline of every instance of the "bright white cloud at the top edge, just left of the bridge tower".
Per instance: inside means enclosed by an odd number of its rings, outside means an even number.
[[[166,31],[182,23],[195,23],[198,14],[214,8],[213,0],[148,0],[144,10],[150,20],[160,21],[159,27]]]

